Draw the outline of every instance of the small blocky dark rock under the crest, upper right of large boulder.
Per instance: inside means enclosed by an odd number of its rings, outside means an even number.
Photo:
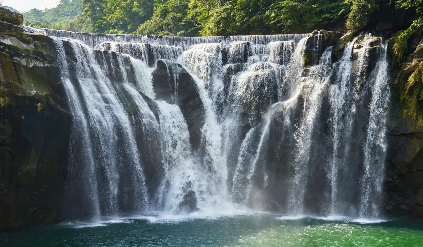
[[[238,41],[222,49],[222,63],[242,63],[247,62],[250,49],[250,42]]]

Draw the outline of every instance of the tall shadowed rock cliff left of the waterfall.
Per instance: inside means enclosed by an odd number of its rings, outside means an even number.
[[[2,19],[0,232],[59,221],[71,127],[48,38],[14,25],[22,15]]]

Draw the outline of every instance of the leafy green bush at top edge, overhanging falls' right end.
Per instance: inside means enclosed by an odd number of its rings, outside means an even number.
[[[361,30],[369,22],[371,14],[379,7],[376,0],[346,0],[351,4],[346,27],[349,30]]]

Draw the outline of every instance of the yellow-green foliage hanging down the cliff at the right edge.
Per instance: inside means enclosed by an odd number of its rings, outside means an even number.
[[[420,66],[408,78],[401,94],[403,116],[411,116],[417,125],[423,127],[423,67]]]

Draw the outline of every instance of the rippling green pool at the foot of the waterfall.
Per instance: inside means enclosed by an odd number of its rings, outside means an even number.
[[[0,234],[0,247],[420,247],[423,221],[396,219],[376,224],[313,218],[277,219],[256,214],[217,219],[129,219],[84,227],[59,224]]]

